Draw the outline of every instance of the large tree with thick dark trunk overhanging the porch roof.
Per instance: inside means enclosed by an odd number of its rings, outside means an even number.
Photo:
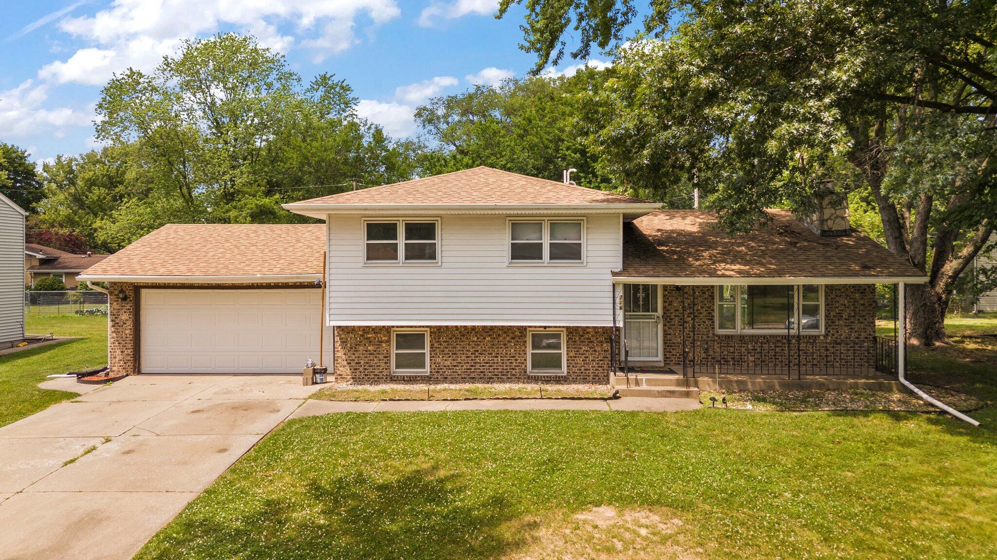
[[[867,190],[886,246],[928,276],[909,288],[911,340],[946,340],[997,223],[992,0],[666,0],[628,43],[632,0],[525,4],[537,69],[572,23],[572,56],[619,54],[597,134],[617,173],[661,197],[692,182],[731,229],[772,204],[806,214],[821,179]]]

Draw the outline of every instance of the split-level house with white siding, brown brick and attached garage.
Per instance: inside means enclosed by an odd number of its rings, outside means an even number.
[[[91,268],[112,372],[300,372],[320,329],[354,383],[871,372],[874,284],[924,281],[840,220],[772,211],[728,235],[707,212],[489,167],[285,208],[325,224],[167,225]]]

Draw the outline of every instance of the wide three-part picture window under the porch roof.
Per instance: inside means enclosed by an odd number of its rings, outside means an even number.
[[[718,333],[824,334],[821,284],[717,286],[715,308]]]

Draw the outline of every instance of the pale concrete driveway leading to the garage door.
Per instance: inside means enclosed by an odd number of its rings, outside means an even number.
[[[144,375],[0,427],[0,559],[131,558],[317,389]]]

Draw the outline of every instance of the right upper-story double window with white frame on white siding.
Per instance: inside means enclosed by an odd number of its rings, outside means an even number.
[[[508,220],[509,264],[584,264],[584,218]]]

